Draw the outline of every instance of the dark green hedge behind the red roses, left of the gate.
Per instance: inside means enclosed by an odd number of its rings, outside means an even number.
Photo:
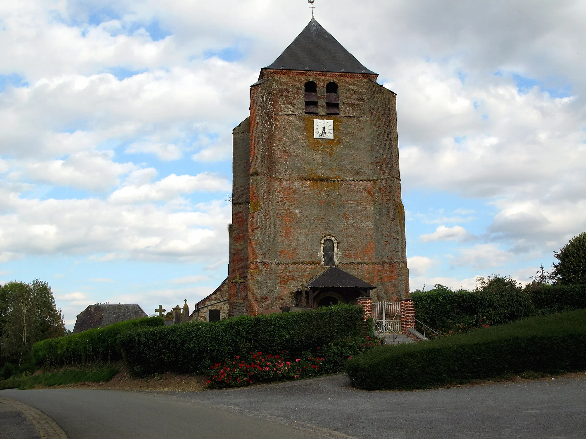
[[[250,352],[294,357],[342,337],[361,335],[362,307],[340,305],[299,313],[241,316],[127,332],[121,345],[135,376],[205,373]]]

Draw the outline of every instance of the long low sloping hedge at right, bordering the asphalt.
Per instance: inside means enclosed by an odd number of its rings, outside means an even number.
[[[375,348],[346,364],[355,387],[425,389],[527,371],[586,370],[586,311],[533,317],[425,343]]]

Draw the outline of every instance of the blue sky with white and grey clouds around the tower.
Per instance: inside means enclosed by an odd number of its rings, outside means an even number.
[[[231,130],[305,0],[0,3],[0,283],[191,308],[227,274]],[[586,1],[316,0],[397,93],[411,290],[529,282],[586,231]]]

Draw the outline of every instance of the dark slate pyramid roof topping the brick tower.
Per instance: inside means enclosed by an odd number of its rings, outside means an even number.
[[[376,74],[364,67],[313,16],[289,47],[265,68]]]

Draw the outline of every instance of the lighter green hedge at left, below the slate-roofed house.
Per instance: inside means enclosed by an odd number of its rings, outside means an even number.
[[[165,323],[161,317],[144,317],[66,337],[39,341],[33,345],[33,361],[49,369],[120,361],[122,359],[118,339],[120,334],[163,325]]]

